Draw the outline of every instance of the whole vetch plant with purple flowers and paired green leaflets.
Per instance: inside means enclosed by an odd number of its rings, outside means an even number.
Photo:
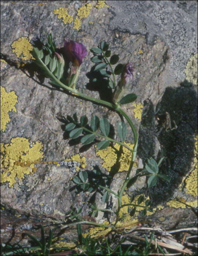
[[[118,200],[117,210],[113,211],[111,209],[101,209],[98,208],[96,203],[91,205],[90,214],[94,217],[98,216],[98,212],[106,212],[109,214],[115,215],[115,222],[110,223],[110,225],[103,225],[96,222],[87,221],[84,217],[80,215],[81,208],[77,210],[72,206],[71,211],[69,211],[66,215],[70,220],[69,223],[62,223],[61,227],[68,227],[71,225],[81,225],[81,224],[90,224],[94,226],[100,227],[111,227],[112,229],[117,228],[118,221],[121,221],[119,216],[120,210],[123,207],[128,207],[128,212],[131,216],[133,216],[136,212],[137,207],[142,207],[142,214],[146,215],[147,211],[152,211],[151,201],[146,200],[145,206],[142,206],[141,203],[144,202],[144,196],[140,196],[137,204],[133,203],[134,194],[131,196],[131,200],[129,204],[122,204],[122,195],[125,189],[132,186],[139,177],[148,176],[148,186],[154,186],[157,182],[157,178],[162,178],[163,180],[170,181],[170,178],[158,174],[158,166],[161,161],[157,164],[154,159],[148,159],[146,162],[145,169],[138,171],[134,177],[130,177],[130,173],[132,171],[132,167],[136,158],[137,153],[137,145],[138,145],[138,136],[136,129],[133,125],[133,122],[130,120],[129,116],[123,111],[122,105],[128,104],[137,99],[137,95],[134,93],[130,93],[124,96],[126,93],[127,87],[133,80],[133,72],[134,67],[132,63],[127,64],[118,64],[119,55],[113,54],[111,55],[111,50],[109,49],[109,44],[105,41],[100,42],[99,46],[96,48],[92,48],[91,52],[94,54],[91,61],[94,63],[94,71],[100,73],[100,75],[108,80],[108,87],[113,91],[112,98],[109,101],[104,101],[102,99],[90,97],[86,94],[79,92],[76,89],[77,79],[80,74],[81,65],[83,63],[84,57],[87,55],[86,47],[73,40],[65,40],[64,42],[64,53],[57,53],[56,44],[53,41],[52,35],[47,35],[47,43],[43,46],[42,49],[33,48],[33,57],[35,58],[35,63],[42,69],[42,74],[50,79],[50,84],[53,86],[61,87],[62,89],[69,91],[72,93],[73,97],[80,97],[81,99],[85,99],[91,101],[95,104],[102,105],[107,107],[110,110],[114,110],[116,113],[119,113],[122,116],[122,120],[120,120],[117,124],[117,132],[119,140],[115,140],[110,136],[110,123],[106,118],[99,119],[98,116],[92,116],[91,120],[88,120],[86,115],[81,116],[80,120],[75,113],[72,116],[67,116],[65,131],[69,132],[69,137],[72,139],[76,139],[80,137],[80,141],[83,144],[97,143],[96,147],[98,150],[103,150],[108,146],[112,146],[115,143],[118,143],[121,147],[126,147],[130,153],[132,154],[132,158],[130,161],[129,170],[126,173],[125,180],[123,185],[118,192],[114,192],[110,189],[111,177],[102,176],[98,170],[93,170],[92,175],[89,176],[86,171],[79,172],[78,176],[73,178],[73,182],[75,183],[76,191],[83,190],[88,191],[90,193],[94,193],[96,191],[100,191],[102,196],[102,201],[107,203],[109,200],[109,195],[113,194]],[[69,74],[67,77],[65,76],[65,62],[70,62]],[[116,65],[115,67],[113,67]],[[109,69],[108,69],[109,68]],[[121,75],[121,79],[118,84],[116,84],[116,75]],[[134,147],[133,149],[127,146],[124,141],[127,135],[127,125],[125,120],[128,122],[130,128],[133,131],[134,135]],[[72,220],[72,221],[71,221]]]

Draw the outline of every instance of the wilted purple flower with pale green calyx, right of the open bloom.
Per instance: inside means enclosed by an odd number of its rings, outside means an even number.
[[[123,69],[121,74],[121,80],[119,80],[117,87],[114,90],[113,93],[113,102],[117,104],[122,96],[125,94],[125,91],[127,87],[129,86],[129,83],[133,81],[133,71],[135,69],[133,68],[132,63],[127,63]]]

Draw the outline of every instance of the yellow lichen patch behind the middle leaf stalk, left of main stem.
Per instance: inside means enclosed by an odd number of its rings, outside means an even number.
[[[127,146],[133,149],[134,144],[125,143]],[[120,145],[118,143],[115,143],[114,147],[119,150]],[[130,161],[132,158],[131,152],[126,148],[122,148],[123,152],[121,153],[121,157],[119,157],[119,172],[127,171],[129,170]],[[98,150],[96,152],[96,156],[99,156],[100,158],[104,159],[104,163],[102,166],[110,172],[111,167],[115,165],[117,162],[118,154],[116,153],[116,150],[112,147],[107,147],[104,150]],[[136,163],[134,164],[136,166]]]

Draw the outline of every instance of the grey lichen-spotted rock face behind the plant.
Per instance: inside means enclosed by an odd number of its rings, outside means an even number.
[[[134,63],[136,73],[127,92],[136,93],[138,99],[123,110],[139,131],[136,162],[142,168],[147,158],[164,156],[160,171],[173,182],[159,182],[148,190],[142,179],[135,193],[153,200],[155,213],[149,217],[160,220],[164,228],[176,223],[194,226],[197,221],[194,211],[185,205],[197,207],[197,1],[106,1],[108,7],[98,5],[101,8],[96,7],[97,1],[85,2],[1,1],[1,242],[8,241],[8,226],[14,228],[16,219],[20,220],[20,234],[30,227],[26,222],[35,226],[39,216],[43,223],[64,219],[71,205],[82,207],[82,215],[87,216],[92,195],[76,194],[71,178],[79,170],[98,168],[108,174],[115,168],[110,164],[116,158],[112,151],[104,155],[93,144],[82,146],[64,132],[63,117],[68,114],[77,113],[79,118],[86,114],[89,121],[96,114],[113,125],[119,116],[51,87],[34,72],[27,49],[36,39],[45,40],[45,31],[53,34],[58,48],[65,38],[87,47],[77,87],[92,97],[105,99],[111,97],[111,91],[105,89],[106,80],[93,82],[89,49],[105,39],[112,52],[119,53],[120,63]],[[85,4],[84,16],[77,16]],[[81,27],[65,24],[71,16],[80,19]],[[191,58],[193,64],[186,66]],[[185,80],[186,75],[190,80]],[[166,113],[171,118],[168,128],[163,121]],[[130,129],[126,142],[133,144]],[[124,163],[127,157],[123,154]],[[117,190],[124,176],[125,172],[119,172],[111,188]],[[189,180],[193,189],[187,185]],[[105,207],[101,195],[96,194],[95,202]],[[140,214],[134,219],[137,217]]]

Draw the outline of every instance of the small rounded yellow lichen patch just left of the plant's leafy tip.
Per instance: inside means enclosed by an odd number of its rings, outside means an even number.
[[[30,41],[27,37],[21,37],[18,40],[14,41],[11,45],[12,52],[16,53],[17,58],[21,55],[22,60],[30,60],[32,54],[30,53],[33,50],[33,46],[30,44]]]

